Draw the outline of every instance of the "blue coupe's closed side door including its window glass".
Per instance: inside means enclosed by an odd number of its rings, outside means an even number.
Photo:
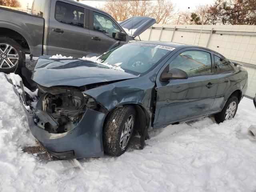
[[[210,113],[215,100],[218,77],[212,54],[204,49],[185,48],[177,52],[158,73],[154,127],[192,120]],[[162,72],[178,68],[188,79],[160,81]]]

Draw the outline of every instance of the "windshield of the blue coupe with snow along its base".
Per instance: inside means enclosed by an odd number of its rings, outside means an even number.
[[[134,42],[103,54],[99,60],[102,63],[120,67],[125,72],[139,75],[152,70],[173,49],[169,46]]]

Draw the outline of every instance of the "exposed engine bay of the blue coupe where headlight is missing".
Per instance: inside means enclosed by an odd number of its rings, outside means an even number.
[[[84,88],[40,85],[38,88],[42,96],[36,106],[34,122],[50,133],[68,132],[80,122],[87,108],[100,109],[93,98],[82,93]]]

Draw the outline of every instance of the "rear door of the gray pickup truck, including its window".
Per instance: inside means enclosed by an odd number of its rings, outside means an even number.
[[[88,9],[72,2],[52,0],[48,55],[86,56],[89,42]]]

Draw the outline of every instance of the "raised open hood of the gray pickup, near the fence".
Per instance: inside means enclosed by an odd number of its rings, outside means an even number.
[[[146,16],[134,16],[120,22],[120,26],[130,36],[138,36],[146,31],[150,26],[156,23],[156,20]]]

